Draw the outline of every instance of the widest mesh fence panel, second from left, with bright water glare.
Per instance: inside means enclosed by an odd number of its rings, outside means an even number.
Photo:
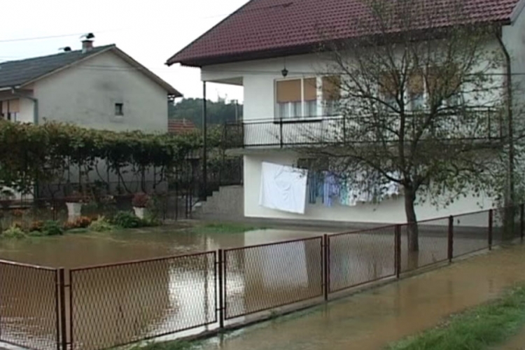
[[[216,252],[71,270],[72,349],[106,349],[217,321]]]

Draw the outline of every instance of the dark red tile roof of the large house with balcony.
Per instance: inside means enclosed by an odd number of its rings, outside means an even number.
[[[447,12],[457,0],[417,0],[436,15],[430,27],[447,26]],[[508,22],[519,0],[463,0],[463,23]],[[168,59],[167,64],[188,66],[278,57],[292,48],[317,45],[329,31],[330,38],[364,34],[356,21],[372,18],[363,0],[251,0]],[[353,24],[353,25],[352,25]],[[428,29],[422,21],[419,29]],[[305,53],[305,52],[297,52]]]

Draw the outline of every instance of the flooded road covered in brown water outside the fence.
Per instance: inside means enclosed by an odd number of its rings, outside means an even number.
[[[303,316],[289,316],[210,339],[202,349],[381,349],[524,280],[525,246],[501,248],[331,302]]]

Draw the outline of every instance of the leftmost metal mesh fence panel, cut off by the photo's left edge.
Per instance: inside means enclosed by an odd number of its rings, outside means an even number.
[[[57,270],[0,261],[0,341],[57,349]]]

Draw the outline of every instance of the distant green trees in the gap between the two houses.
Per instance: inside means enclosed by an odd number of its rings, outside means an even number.
[[[223,125],[226,122],[235,122],[235,104],[226,104],[224,101],[207,101],[207,115],[211,125]],[[238,118],[242,118],[242,105],[237,106]],[[197,127],[202,127],[202,99],[183,99],[181,102],[169,105],[169,118],[187,119]]]

